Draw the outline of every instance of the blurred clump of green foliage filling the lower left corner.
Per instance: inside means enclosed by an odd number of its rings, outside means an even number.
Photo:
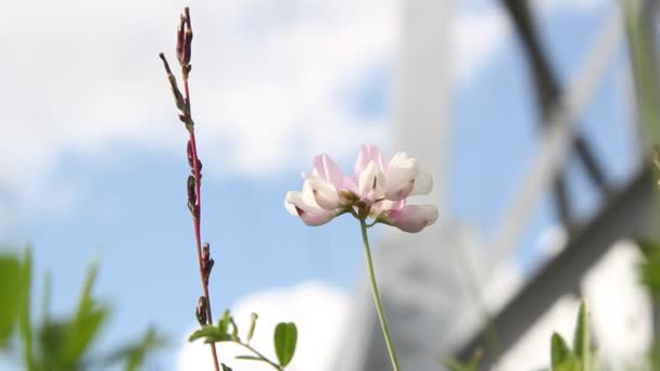
[[[13,263],[7,263],[13,261]],[[53,319],[49,314],[50,278],[45,278],[40,323],[31,319],[31,250],[27,247],[24,256],[0,258],[0,290],[3,300],[14,303],[14,309],[0,309],[0,325],[4,329],[9,318],[9,335],[17,323],[18,341],[23,363],[29,371],[68,371],[99,369],[101,361],[90,356],[90,349],[98,340],[103,325],[109,320],[110,308],[92,296],[98,266],[92,264],[87,272],[78,305],[71,317]],[[11,280],[5,280],[13,277]],[[7,291],[5,283],[11,282],[16,293]],[[5,294],[7,293],[7,294]],[[13,296],[12,296],[13,295]],[[4,303],[3,303],[4,304]],[[11,315],[11,311],[14,311]],[[9,322],[8,322],[9,323]],[[4,331],[4,330],[3,330]],[[2,332],[3,336],[5,332]],[[7,341],[5,337],[0,340]],[[123,346],[112,356],[106,357],[105,364],[124,363],[125,369],[137,370],[147,355],[163,344],[155,330],[150,329],[143,338],[134,345]]]

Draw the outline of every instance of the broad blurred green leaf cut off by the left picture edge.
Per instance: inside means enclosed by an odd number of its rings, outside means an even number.
[[[0,256],[0,348],[8,345],[21,303],[21,285],[16,284],[21,274],[21,263],[14,256]]]

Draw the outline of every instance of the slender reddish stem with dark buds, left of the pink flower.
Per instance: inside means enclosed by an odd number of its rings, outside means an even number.
[[[199,305],[196,308],[198,321],[201,325],[213,323],[213,312],[211,310],[211,296],[208,295],[208,276],[213,268],[213,259],[211,259],[211,252],[208,244],[204,244],[202,247],[202,233],[201,233],[201,217],[202,217],[202,163],[198,156],[198,146],[194,137],[194,121],[192,120],[192,112],[190,104],[190,89],[188,87],[188,76],[192,66],[190,65],[191,56],[191,42],[192,42],[192,26],[190,21],[190,11],[188,8],[183,10],[180,16],[179,28],[177,31],[177,60],[181,66],[181,77],[183,80],[183,94],[177,86],[177,79],[169,68],[169,64],[163,53],[160,54],[172,92],[175,98],[175,103],[179,108],[179,119],[186,125],[186,129],[189,133],[188,141],[188,163],[190,165],[192,176],[188,178],[188,207],[192,214],[192,222],[194,230],[194,240],[198,251],[198,263],[200,268],[200,278],[202,281],[202,290],[204,295],[200,297]],[[210,343],[211,353],[213,355],[213,362],[216,371],[220,370],[218,362],[217,350],[214,343]]]

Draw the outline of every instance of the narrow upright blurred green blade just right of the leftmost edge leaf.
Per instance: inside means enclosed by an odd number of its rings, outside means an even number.
[[[33,278],[33,252],[29,245],[25,246],[25,253],[21,265],[21,303],[18,304],[18,330],[23,341],[23,357],[27,370],[36,370],[33,354],[33,325],[30,322],[30,299],[31,299],[31,278]]]

